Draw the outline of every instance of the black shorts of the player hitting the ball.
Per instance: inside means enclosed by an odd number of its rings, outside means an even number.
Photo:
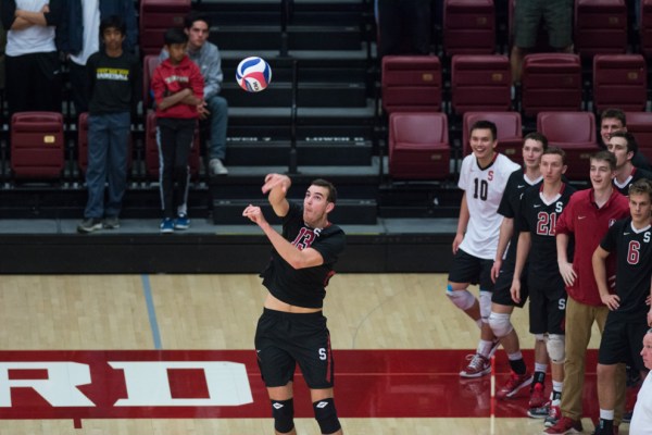
[[[264,309],[255,330],[255,351],[265,386],[287,385],[297,364],[309,388],[331,388],[330,334],[322,312],[298,314]]]

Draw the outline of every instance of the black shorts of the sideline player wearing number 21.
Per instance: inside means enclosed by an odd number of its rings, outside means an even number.
[[[566,287],[562,277],[541,282],[535,276],[529,281],[529,321],[531,334],[565,334]]]

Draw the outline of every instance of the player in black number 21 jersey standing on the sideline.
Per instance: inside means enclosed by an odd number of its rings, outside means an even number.
[[[566,172],[566,153],[550,147],[541,156],[543,184],[523,194],[518,215],[518,247],[512,282],[512,298],[521,302],[521,276],[529,258],[527,287],[529,289],[530,333],[546,341],[552,362],[552,400],[544,425],[550,427],[561,418],[560,405],[564,386],[564,316],[566,289],[555,261],[556,222],[575,189],[562,181]]]

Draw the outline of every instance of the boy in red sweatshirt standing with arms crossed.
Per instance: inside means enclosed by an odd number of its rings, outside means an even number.
[[[199,67],[186,54],[187,44],[188,35],[183,29],[171,28],[165,32],[165,49],[170,58],[156,66],[152,77],[161,164],[161,233],[186,229],[190,225],[187,206],[190,183],[188,157],[197,126],[197,107],[203,102],[204,83]]]

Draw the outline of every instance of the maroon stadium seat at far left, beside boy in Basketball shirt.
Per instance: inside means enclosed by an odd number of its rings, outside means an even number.
[[[63,115],[17,112],[11,117],[11,170],[15,178],[61,178],[64,167]]]

